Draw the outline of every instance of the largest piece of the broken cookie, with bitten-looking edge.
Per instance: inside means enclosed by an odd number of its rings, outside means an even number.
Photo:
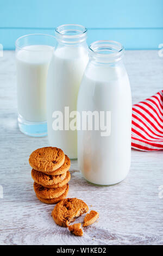
[[[89,210],[86,203],[78,198],[66,198],[55,205],[52,217],[55,223],[68,227],[77,217],[85,214]]]

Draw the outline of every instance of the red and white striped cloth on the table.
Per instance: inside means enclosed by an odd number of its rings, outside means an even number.
[[[163,149],[163,90],[133,105],[131,147],[142,151]]]

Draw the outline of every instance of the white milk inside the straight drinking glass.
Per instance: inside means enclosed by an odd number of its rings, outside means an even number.
[[[53,47],[25,46],[16,53],[18,113],[30,122],[46,117],[46,82]]]

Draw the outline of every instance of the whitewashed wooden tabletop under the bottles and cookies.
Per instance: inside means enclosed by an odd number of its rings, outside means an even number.
[[[127,51],[125,63],[133,103],[163,89],[163,58],[158,51]],[[27,137],[18,130],[12,51],[0,57],[0,108],[0,185],[4,193],[0,199],[1,245],[163,244],[163,198],[161,193],[159,196],[163,185],[162,151],[132,150],[127,179],[107,187],[88,184],[77,161],[72,161],[68,197],[83,199],[90,209],[99,212],[98,222],[85,228],[83,237],[73,236],[54,223],[54,206],[41,203],[33,191],[28,157],[48,141],[46,137]]]

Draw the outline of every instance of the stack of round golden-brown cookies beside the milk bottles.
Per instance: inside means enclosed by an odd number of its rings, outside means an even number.
[[[70,159],[61,149],[36,149],[29,157],[37,198],[46,204],[56,204],[68,194],[71,175]]]

